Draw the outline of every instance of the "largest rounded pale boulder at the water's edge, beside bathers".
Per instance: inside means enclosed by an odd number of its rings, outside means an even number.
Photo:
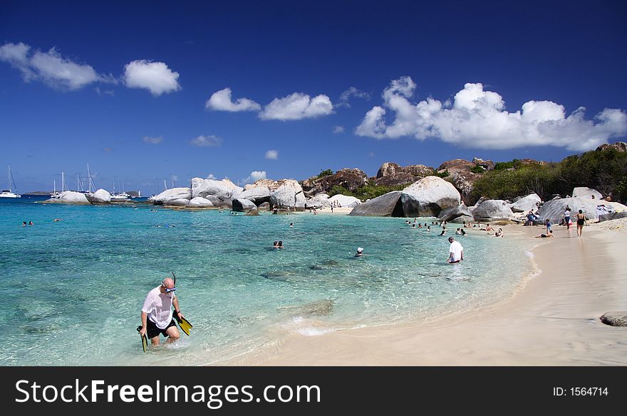
[[[407,217],[435,217],[442,210],[459,206],[461,196],[452,183],[427,176],[403,189],[400,200]]]

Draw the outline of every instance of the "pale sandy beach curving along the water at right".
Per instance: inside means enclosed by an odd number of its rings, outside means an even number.
[[[528,238],[541,227],[509,225]],[[555,227],[537,239],[541,272],[510,299],[436,321],[321,336],[291,334],[272,351],[227,365],[261,366],[624,366],[627,328],[606,326],[607,311],[627,310],[627,233],[599,225],[576,238]],[[506,237],[507,238],[507,237]]]

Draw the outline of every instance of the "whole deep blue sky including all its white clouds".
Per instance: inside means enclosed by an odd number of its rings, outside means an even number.
[[[622,1],[337,3],[4,1],[1,169],[154,193],[626,137]]]

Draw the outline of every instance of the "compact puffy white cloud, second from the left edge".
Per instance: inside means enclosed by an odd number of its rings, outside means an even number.
[[[155,97],[180,90],[179,73],[162,62],[133,60],[124,67],[124,83],[129,88],[145,88]]]

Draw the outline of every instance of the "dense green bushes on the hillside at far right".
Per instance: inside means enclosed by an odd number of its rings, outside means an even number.
[[[576,186],[588,186],[615,201],[626,201],[627,153],[615,149],[586,151],[549,164],[521,164],[517,159],[499,162],[494,171],[475,182],[472,192],[476,198],[494,199],[535,192],[548,201],[554,194],[570,195]]]

